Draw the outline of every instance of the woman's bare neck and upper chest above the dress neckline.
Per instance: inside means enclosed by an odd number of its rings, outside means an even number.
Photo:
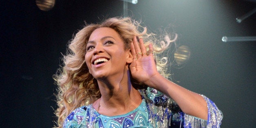
[[[120,79],[98,80],[102,97],[94,108],[103,115],[114,116],[128,113],[141,104],[141,95],[133,88],[127,71]]]

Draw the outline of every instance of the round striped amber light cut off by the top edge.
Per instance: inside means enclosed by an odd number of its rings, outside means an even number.
[[[35,0],[36,5],[42,11],[49,11],[54,7],[55,0]]]

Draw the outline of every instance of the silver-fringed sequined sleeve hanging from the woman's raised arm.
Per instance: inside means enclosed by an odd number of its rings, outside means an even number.
[[[220,128],[223,118],[221,110],[210,99],[201,95],[207,102],[208,119],[200,119],[181,111],[177,103],[160,91],[148,87],[141,90],[141,95],[148,102],[149,117],[153,126],[184,128]]]

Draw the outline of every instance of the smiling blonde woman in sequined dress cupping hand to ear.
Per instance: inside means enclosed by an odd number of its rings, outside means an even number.
[[[130,18],[89,24],[69,44],[59,85],[60,127],[219,127],[222,113],[207,97],[163,76],[153,34]],[[138,37],[143,37],[138,38]],[[162,43],[163,44],[163,43]],[[160,74],[160,73],[161,74]],[[158,91],[157,91],[158,90]],[[161,92],[161,93],[160,93]]]

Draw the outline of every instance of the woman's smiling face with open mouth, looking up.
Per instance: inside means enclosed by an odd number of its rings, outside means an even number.
[[[93,77],[122,76],[132,62],[130,50],[120,35],[111,28],[102,27],[93,31],[86,45],[85,60]]]

